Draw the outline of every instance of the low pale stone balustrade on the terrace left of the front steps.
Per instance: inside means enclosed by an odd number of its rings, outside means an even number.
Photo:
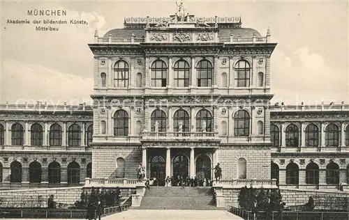
[[[108,178],[85,178],[85,187],[121,187],[135,186],[138,183],[137,179],[108,179]]]

